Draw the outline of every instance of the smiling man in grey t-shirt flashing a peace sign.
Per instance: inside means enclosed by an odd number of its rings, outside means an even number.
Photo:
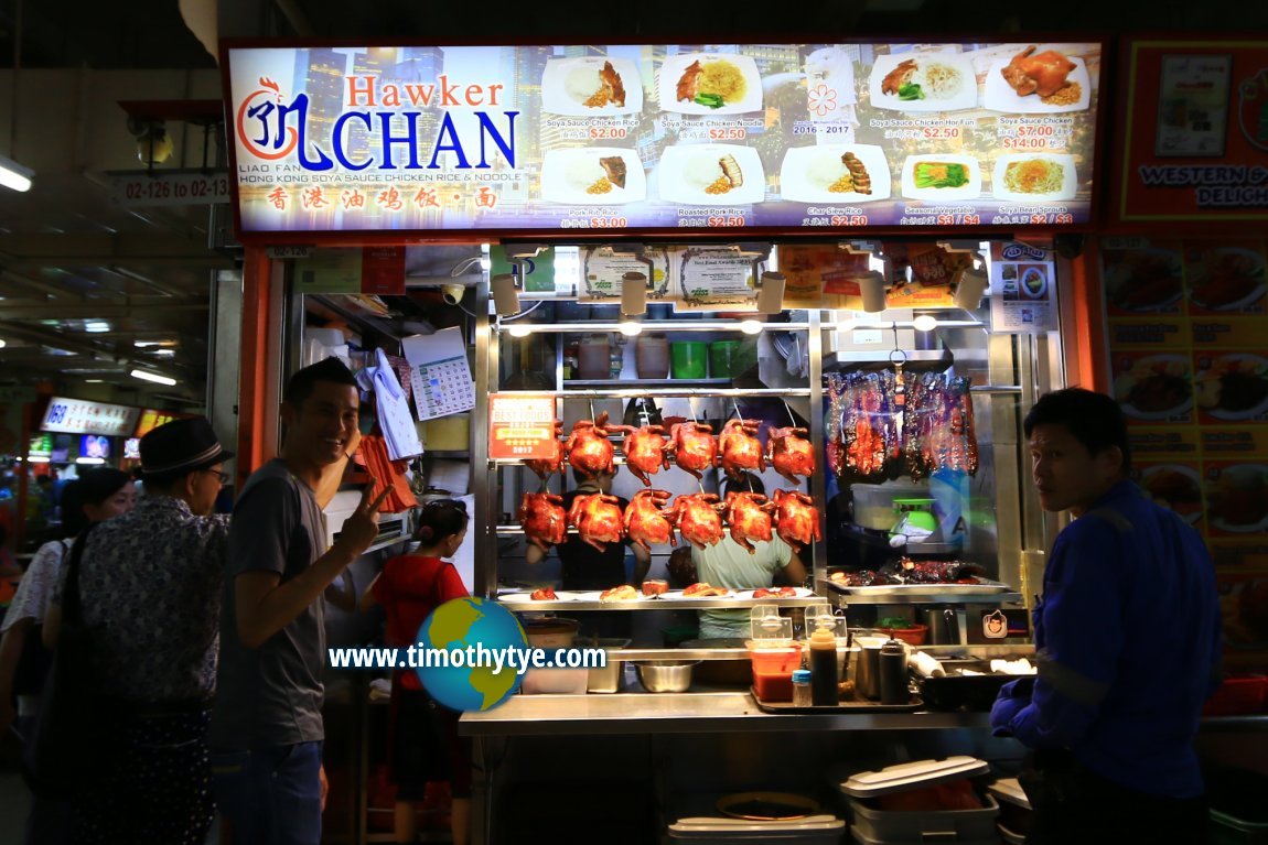
[[[212,712],[216,798],[237,845],[321,841],[326,633],[322,594],[378,533],[384,490],[326,549],[314,490],[346,460],[358,391],[337,359],[287,384],[281,455],[247,480],[230,526],[221,663]]]

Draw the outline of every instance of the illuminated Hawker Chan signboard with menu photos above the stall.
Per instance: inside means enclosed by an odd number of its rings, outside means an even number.
[[[1087,226],[1101,47],[227,43],[240,234]]]

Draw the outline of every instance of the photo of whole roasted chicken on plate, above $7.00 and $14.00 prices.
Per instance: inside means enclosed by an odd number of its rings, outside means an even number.
[[[1021,47],[987,73],[983,105],[994,111],[1082,111],[1092,104],[1083,58],[1037,44]]]

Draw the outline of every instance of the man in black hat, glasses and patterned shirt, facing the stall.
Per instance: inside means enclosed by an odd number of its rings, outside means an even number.
[[[84,546],[84,622],[119,741],[71,806],[76,842],[200,842],[214,817],[207,728],[216,689],[228,517],[212,516],[233,457],[203,417],[141,438],[146,495]],[[117,720],[115,723],[107,723]]]

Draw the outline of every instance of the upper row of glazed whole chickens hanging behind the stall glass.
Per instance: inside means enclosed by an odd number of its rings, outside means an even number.
[[[758,419],[732,419],[723,426],[720,433],[714,435],[708,423],[681,422],[671,426],[666,437],[663,426],[635,428],[609,424],[605,412],[595,419],[578,421],[567,440],[560,440],[563,423],[555,422],[554,455],[524,462],[543,480],[552,473],[562,473],[564,462],[583,476],[610,475],[614,470],[615,447],[609,438],[624,432],[621,450],[625,465],[647,486],[652,485],[648,476],[662,467],[668,469],[671,457],[678,467],[697,479],[702,471],[714,466],[721,466],[732,478],[742,478],[746,471],[765,470],[767,461],[792,484],[800,483],[798,476],[814,474],[814,448],[805,428],[771,426],[763,448],[757,437],[760,427]]]

